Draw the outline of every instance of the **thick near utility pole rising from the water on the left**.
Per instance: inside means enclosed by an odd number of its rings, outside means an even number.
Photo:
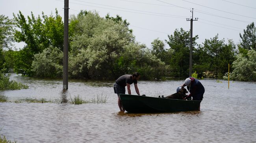
[[[63,89],[68,89],[69,63],[69,0],[64,0]]]

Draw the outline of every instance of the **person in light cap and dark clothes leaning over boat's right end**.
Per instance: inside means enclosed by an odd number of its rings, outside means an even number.
[[[190,92],[190,94],[188,96],[186,96],[184,98],[184,100],[186,100],[187,98],[190,98],[192,96],[192,100],[203,100],[203,96],[204,96],[204,86],[202,85],[202,83],[192,77],[189,77],[185,80],[184,85],[182,85],[181,87],[185,87],[187,86],[187,90]]]

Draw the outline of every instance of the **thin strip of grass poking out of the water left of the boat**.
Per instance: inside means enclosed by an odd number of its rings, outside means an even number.
[[[45,98],[24,98],[24,99],[20,99],[20,100],[15,100],[15,101],[11,101],[8,100],[9,98],[7,96],[4,95],[0,95],[0,103],[1,102],[7,102],[7,103],[70,103],[70,104],[75,104],[75,105],[79,105],[79,104],[85,104],[85,103],[107,103],[108,100],[108,96],[106,95],[96,95],[94,98],[88,99],[86,100],[85,98],[82,98],[81,96],[77,95],[74,97],[70,96],[69,100],[65,100],[64,102],[58,99],[54,99],[54,100],[46,100]]]

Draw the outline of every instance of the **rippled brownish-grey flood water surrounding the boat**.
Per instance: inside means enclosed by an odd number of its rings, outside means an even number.
[[[255,143],[256,83],[200,80],[205,94],[200,111],[129,114],[119,112],[114,81],[42,80],[12,74],[29,89],[0,91],[11,101],[24,98],[85,100],[104,95],[107,103],[0,103],[0,134],[19,143]],[[138,81],[141,94],[176,92],[182,80]],[[134,86],[131,87],[135,94]],[[127,91],[126,91],[127,93]]]

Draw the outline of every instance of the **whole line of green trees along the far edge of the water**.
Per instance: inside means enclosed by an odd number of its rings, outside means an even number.
[[[63,21],[55,16],[0,15],[0,69],[41,78],[61,78]],[[167,40],[156,38],[147,47],[135,40],[130,23],[117,15],[100,17],[80,11],[69,19],[69,77],[113,80],[122,74],[141,73],[144,80],[189,76],[190,31],[175,29]],[[237,45],[215,35],[202,44],[193,37],[193,72],[198,77],[256,81],[256,28],[249,24]],[[26,45],[13,50],[13,42]],[[165,43],[168,46],[165,48]]]

